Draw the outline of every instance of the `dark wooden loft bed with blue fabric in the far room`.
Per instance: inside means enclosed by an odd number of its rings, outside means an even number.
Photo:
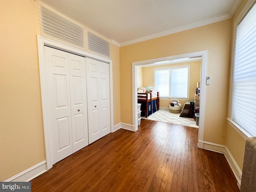
[[[141,116],[148,118],[159,110],[159,92],[138,93],[138,103],[141,103]]]

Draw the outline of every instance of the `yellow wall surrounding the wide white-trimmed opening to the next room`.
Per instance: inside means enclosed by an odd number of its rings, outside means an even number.
[[[120,47],[121,122],[132,124],[132,62],[208,50],[204,140],[225,144],[230,34],[231,20],[223,20]]]

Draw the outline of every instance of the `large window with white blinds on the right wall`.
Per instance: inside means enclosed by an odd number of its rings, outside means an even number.
[[[237,27],[232,120],[256,136],[256,5]]]

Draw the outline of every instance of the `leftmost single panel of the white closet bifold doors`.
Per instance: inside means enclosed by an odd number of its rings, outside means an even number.
[[[72,154],[72,125],[68,53],[50,47],[45,50],[47,114],[52,164]]]

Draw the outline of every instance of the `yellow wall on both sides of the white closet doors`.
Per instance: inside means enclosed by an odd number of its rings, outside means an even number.
[[[38,1],[0,6],[0,181],[46,159],[37,37]],[[114,124],[120,123],[119,47],[111,44]]]

